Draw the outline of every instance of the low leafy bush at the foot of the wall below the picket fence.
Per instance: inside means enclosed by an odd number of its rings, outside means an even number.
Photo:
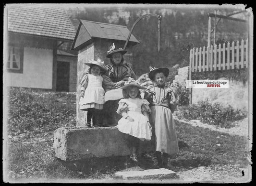
[[[176,115],[188,120],[201,120],[210,125],[230,128],[232,122],[246,117],[246,113],[240,109],[234,109],[231,105],[223,107],[219,103],[211,104],[208,101],[199,101],[198,104],[190,104],[179,107]]]

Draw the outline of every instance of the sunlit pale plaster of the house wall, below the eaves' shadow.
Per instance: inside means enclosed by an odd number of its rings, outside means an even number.
[[[52,49],[24,47],[23,73],[7,73],[7,86],[52,88]]]

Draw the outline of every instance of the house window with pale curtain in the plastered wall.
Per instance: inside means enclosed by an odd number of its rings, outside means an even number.
[[[23,47],[8,46],[8,72],[23,73]]]

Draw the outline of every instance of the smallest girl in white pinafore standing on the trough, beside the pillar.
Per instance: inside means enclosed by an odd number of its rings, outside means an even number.
[[[91,127],[91,119],[96,124],[97,110],[103,109],[105,90],[102,88],[103,77],[101,74],[106,72],[104,61],[91,60],[85,65],[90,66],[88,74],[81,80],[81,99],[79,105],[81,110],[87,111],[87,127]]]

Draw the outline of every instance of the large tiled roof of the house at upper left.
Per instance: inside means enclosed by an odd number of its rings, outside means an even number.
[[[8,31],[73,40],[75,29],[65,11],[43,5],[9,6]]]

